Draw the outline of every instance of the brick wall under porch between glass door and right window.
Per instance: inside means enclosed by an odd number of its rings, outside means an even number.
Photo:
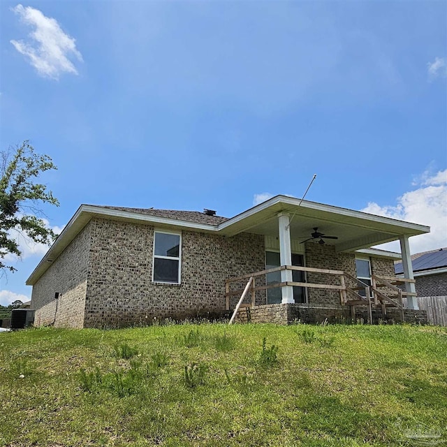
[[[337,253],[330,244],[306,244],[306,266],[330,270],[342,270],[356,276],[356,258],[353,254]],[[307,273],[307,282],[314,284],[337,284],[339,277],[333,274]],[[349,284],[347,284],[349,285]],[[353,286],[353,284],[351,284]],[[307,298],[311,306],[339,307],[339,291],[328,291],[321,288],[308,288]]]

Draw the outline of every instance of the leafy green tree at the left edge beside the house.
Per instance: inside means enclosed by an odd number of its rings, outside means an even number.
[[[7,254],[21,255],[17,233],[43,244],[56,238],[38,216],[43,203],[59,206],[59,201],[44,184],[36,183],[36,178],[57,168],[49,156],[36,154],[28,140],[1,152],[0,163],[0,270],[14,272],[17,269],[7,265],[4,258]]]

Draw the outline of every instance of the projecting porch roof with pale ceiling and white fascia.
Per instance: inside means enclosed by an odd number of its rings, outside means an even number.
[[[337,240],[325,240],[337,251],[353,251],[372,245],[398,240],[400,236],[413,236],[430,232],[430,227],[379,217],[345,208],[308,202],[286,196],[276,196],[261,205],[233,217],[219,226],[219,233],[228,236],[247,232],[278,237],[280,212],[291,218],[291,239],[311,237],[314,227]]]

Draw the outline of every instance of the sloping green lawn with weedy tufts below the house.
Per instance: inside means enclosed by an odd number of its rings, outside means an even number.
[[[446,446],[447,329],[1,332],[0,393],[10,447]]]

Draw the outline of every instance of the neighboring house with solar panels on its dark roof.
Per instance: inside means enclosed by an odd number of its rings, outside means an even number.
[[[447,247],[411,255],[418,297],[447,296]],[[395,263],[397,277],[402,277],[402,262]]]

